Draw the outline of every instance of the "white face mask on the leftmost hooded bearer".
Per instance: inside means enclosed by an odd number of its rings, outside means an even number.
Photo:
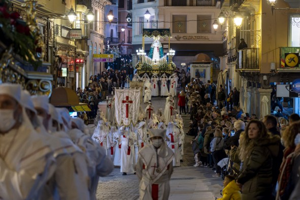
[[[8,132],[15,124],[14,110],[12,109],[0,109],[0,131]]]

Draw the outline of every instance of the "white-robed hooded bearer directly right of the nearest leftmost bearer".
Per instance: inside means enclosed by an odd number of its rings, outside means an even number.
[[[23,96],[23,99],[25,98],[26,97]],[[54,151],[54,157],[57,163],[57,169],[54,172],[53,179],[48,182],[48,189],[43,191],[42,198],[51,199],[50,197],[55,193],[55,187],[57,186],[58,195],[60,197],[66,197],[67,199],[91,199],[88,183],[82,181],[89,180],[84,153],[73,144],[66,132],[59,131],[59,121],[62,120],[59,119],[58,112],[54,106],[48,103],[48,97],[45,95],[33,96],[31,99],[40,121],[36,130],[41,135],[44,135],[45,139],[49,142],[50,147]],[[48,133],[50,133],[50,135]],[[76,171],[78,169],[79,173],[77,174]],[[66,187],[66,184],[68,187]],[[76,188],[78,191],[73,192],[70,190],[70,187]]]

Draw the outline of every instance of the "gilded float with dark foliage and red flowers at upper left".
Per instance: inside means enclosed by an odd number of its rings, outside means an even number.
[[[36,22],[37,1],[24,1],[26,21],[0,1],[0,83],[21,84],[31,95],[52,93],[53,76],[43,63],[45,45]]]

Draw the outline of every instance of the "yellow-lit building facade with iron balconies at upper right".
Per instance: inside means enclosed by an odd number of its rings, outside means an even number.
[[[300,2],[278,0],[271,6],[268,0],[225,0],[221,11],[225,22],[218,29],[224,32],[224,69],[229,71],[232,87],[244,93],[241,107],[248,113],[263,117],[263,107],[270,113],[273,109],[272,85],[290,84],[299,77],[299,63],[289,64],[285,56],[298,56],[300,49],[299,11]],[[288,9],[287,9],[288,8]],[[241,27],[234,25],[235,14],[241,14]],[[240,39],[247,48],[239,49]],[[280,100],[284,95],[277,95]],[[264,101],[267,99],[267,101]],[[243,100],[244,99],[244,100]],[[246,99],[246,100],[245,100]],[[293,104],[294,112],[299,112],[298,98],[284,98]],[[286,105],[287,107],[287,105]]]

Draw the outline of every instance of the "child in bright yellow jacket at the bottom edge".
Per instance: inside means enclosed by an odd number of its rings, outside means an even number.
[[[223,196],[217,200],[241,200],[241,191],[239,191],[238,185],[235,183],[235,178],[231,175],[225,176],[223,181],[224,189],[222,191]]]

